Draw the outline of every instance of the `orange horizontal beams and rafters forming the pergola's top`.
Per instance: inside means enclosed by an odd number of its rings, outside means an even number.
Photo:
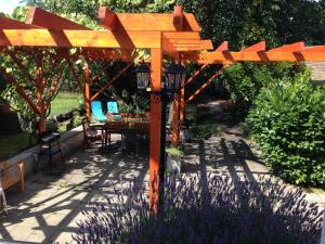
[[[0,47],[82,48],[82,54],[92,60],[132,61],[133,49],[161,49],[169,56],[203,64],[325,60],[325,46],[304,47],[303,42],[265,51],[265,42],[261,41],[231,52],[225,41],[212,52],[202,52],[212,50],[212,42],[200,39],[195,16],[183,13],[181,7],[176,7],[172,14],[114,13],[102,7],[98,23],[104,29],[93,30],[44,10],[29,8],[26,23],[0,16]]]

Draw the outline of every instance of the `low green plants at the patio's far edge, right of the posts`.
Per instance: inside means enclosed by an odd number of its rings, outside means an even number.
[[[205,140],[211,136],[218,136],[221,129],[216,123],[193,125],[190,128],[191,139],[194,140]]]

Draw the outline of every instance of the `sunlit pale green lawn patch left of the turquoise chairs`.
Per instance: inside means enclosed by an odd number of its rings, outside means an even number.
[[[82,94],[60,92],[57,97],[52,101],[51,115],[57,115],[69,112],[72,108],[78,106],[83,102]]]

